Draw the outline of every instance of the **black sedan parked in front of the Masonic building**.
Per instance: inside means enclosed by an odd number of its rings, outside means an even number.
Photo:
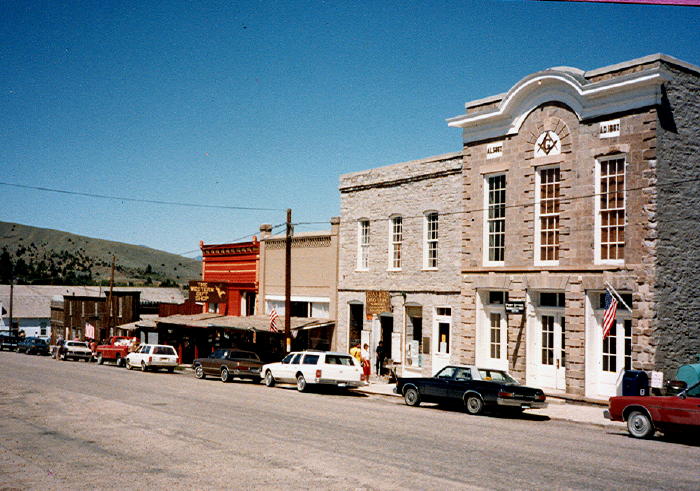
[[[421,402],[464,404],[469,414],[485,409],[536,409],[547,406],[542,389],[519,385],[504,370],[491,370],[470,365],[446,366],[433,377],[399,377],[394,392],[403,395],[409,406]]]

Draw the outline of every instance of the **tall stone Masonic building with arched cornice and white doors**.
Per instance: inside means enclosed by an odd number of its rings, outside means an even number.
[[[699,75],[666,55],[556,67],[448,120],[463,129],[457,360],[592,399],[624,369],[668,378],[695,360]],[[387,198],[389,212],[403,202]],[[631,312],[603,340],[607,286]]]

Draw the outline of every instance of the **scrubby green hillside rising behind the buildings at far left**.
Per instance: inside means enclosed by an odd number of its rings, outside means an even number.
[[[119,285],[184,285],[201,277],[201,262],[143,246],[59,230],[0,222],[0,283],[109,283],[112,256]]]

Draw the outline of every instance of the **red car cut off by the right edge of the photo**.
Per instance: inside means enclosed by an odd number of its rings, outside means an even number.
[[[603,415],[626,422],[635,438],[651,438],[657,430],[700,434],[700,382],[675,395],[611,397]]]

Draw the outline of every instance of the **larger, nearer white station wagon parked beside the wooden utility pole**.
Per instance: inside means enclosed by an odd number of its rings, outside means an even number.
[[[347,353],[331,351],[296,351],[282,361],[263,365],[265,385],[276,383],[296,384],[299,392],[309,385],[334,385],[336,387],[360,387],[362,367]]]

